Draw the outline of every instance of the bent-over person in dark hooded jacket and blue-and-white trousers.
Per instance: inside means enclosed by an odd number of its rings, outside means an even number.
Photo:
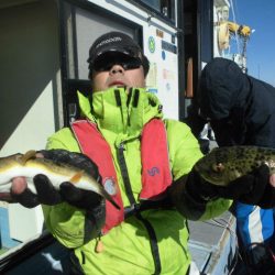
[[[219,146],[275,148],[275,88],[244,74],[234,62],[217,57],[205,66],[197,105]],[[275,274],[274,209],[235,201],[233,212],[246,268]]]

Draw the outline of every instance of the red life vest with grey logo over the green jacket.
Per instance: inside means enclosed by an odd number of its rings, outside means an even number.
[[[81,152],[98,165],[105,188],[108,190],[110,189],[108,185],[114,185],[112,189],[116,193],[110,195],[120,206],[120,210],[106,201],[106,224],[102,229],[105,234],[124,220],[123,202],[111,148],[95,123],[88,120],[78,120],[72,124],[72,129]],[[142,190],[140,199],[157,200],[172,184],[166,129],[164,122],[160,119],[151,120],[143,128],[141,160]]]

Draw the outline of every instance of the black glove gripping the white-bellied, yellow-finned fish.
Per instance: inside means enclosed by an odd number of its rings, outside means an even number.
[[[73,153],[66,150],[44,150],[38,153],[43,154],[47,160],[78,167],[91,174],[94,178],[100,179],[97,165],[81,153]],[[37,195],[33,194],[29,188],[21,194],[12,193],[12,198],[28,208],[33,208],[40,204],[53,206],[65,200],[77,208],[92,209],[103,200],[100,195],[79,189],[70,183],[63,183],[61,190],[57,191],[45,175],[36,175],[33,182]]]

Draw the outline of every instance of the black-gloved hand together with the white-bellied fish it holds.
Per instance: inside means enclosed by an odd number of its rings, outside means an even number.
[[[41,151],[40,154],[44,157],[29,152],[0,160],[0,199],[7,200],[8,194],[13,201],[28,208],[65,200],[87,209],[100,204],[102,198],[116,206],[95,179],[99,180],[100,176],[90,158],[65,150]]]

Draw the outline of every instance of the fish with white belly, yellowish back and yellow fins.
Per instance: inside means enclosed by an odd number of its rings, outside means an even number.
[[[36,157],[36,151],[25,154],[14,154],[0,157],[0,194],[9,194],[11,180],[14,177],[25,177],[28,188],[36,194],[33,177],[43,174],[48,177],[55,189],[64,182],[69,182],[75,187],[97,193],[110,201],[117,209],[120,207],[91,175],[72,165],[56,163],[44,157]]]

